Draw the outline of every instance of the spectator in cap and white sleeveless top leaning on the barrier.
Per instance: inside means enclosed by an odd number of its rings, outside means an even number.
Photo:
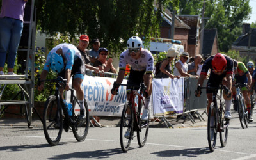
[[[188,52],[182,52],[180,55],[180,60],[177,61],[174,65],[174,71],[173,74],[175,76],[180,77],[191,77],[193,75],[188,74],[188,64],[186,61],[188,61],[189,55]]]

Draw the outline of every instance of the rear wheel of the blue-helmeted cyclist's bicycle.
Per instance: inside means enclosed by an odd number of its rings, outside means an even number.
[[[75,108],[80,108],[79,102],[77,101],[77,98],[74,97],[73,100],[73,113],[72,113],[72,120],[76,122],[77,118],[79,118],[79,115],[76,114]],[[84,114],[86,115],[86,118],[83,120],[79,120],[76,125],[72,126],[73,134],[77,141],[84,141],[88,134],[89,130],[89,109],[88,104],[86,100],[84,99]]]

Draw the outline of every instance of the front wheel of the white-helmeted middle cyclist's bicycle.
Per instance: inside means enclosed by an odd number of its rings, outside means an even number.
[[[131,113],[131,115],[127,116],[127,111]],[[120,144],[123,152],[127,152],[131,140],[132,140],[132,134],[133,134],[133,114],[132,114],[132,106],[129,102],[125,103],[124,109],[122,112],[121,122],[120,122]],[[125,132],[127,129],[130,130],[129,138],[125,138]]]

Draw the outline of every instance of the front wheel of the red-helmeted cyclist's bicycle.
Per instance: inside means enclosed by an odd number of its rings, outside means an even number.
[[[217,139],[217,113],[216,113],[216,107],[214,106],[214,103],[211,103],[211,106],[209,108],[208,112],[208,122],[207,122],[207,140],[209,149],[211,152],[214,151],[215,145],[216,145],[216,139]],[[211,137],[211,131],[213,132]]]

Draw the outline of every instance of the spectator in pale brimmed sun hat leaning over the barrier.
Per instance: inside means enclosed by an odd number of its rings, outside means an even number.
[[[175,58],[175,56],[178,55],[178,52],[175,51],[175,49],[170,48],[168,49],[168,52],[166,54],[166,59],[164,59],[163,61],[161,61],[160,64],[160,68],[159,68],[159,73],[156,75],[155,78],[180,78],[180,76],[174,76],[173,74],[171,74],[171,70],[172,70],[172,60]]]

